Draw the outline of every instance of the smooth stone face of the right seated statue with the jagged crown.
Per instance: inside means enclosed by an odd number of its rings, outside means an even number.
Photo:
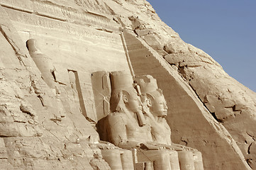
[[[167,116],[167,103],[163,95],[155,97],[151,102],[151,104],[152,104],[151,111],[154,115],[157,115],[160,117]]]

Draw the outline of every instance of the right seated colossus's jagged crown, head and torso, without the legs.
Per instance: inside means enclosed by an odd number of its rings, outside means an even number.
[[[151,76],[135,77],[135,83],[140,86],[140,97],[143,101],[143,111],[151,125],[152,140],[155,143],[171,145],[171,129],[166,121],[167,103],[158,89],[156,79]]]

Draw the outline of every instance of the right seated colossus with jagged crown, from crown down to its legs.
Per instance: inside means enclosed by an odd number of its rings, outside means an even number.
[[[201,152],[190,147],[175,145],[171,142],[171,130],[166,120],[167,103],[162,90],[158,89],[156,79],[150,75],[145,75],[135,77],[135,83],[140,87],[143,111],[150,123],[153,142],[157,143],[157,145],[177,150],[180,169],[204,169]],[[174,153],[172,152],[172,154]],[[177,168],[176,166],[174,169]]]

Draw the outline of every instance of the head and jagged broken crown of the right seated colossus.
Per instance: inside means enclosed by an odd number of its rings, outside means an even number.
[[[135,77],[135,81],[140,86],[143,103],[150,108],[150,113],[155,117],[167,116],[167,103],[158,89],[157,81],[150,75]]]

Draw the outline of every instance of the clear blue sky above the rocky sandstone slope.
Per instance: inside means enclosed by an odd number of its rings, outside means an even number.
[[[240,83],[256,91],[255,0],[148,0],[185,42],[211,55]]]

